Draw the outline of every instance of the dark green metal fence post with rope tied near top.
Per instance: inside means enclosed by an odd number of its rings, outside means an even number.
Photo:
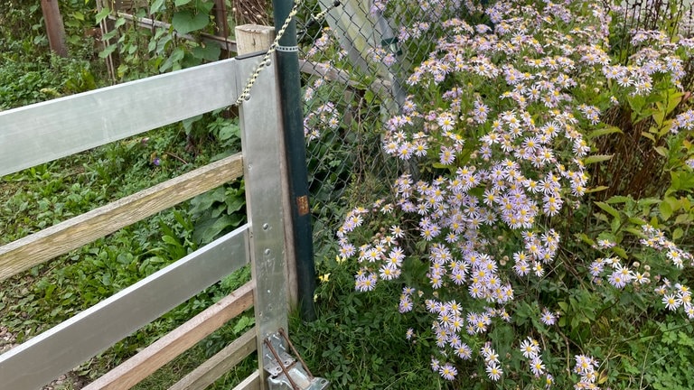
[[[292,0],[273,0],[272,5],[275,29],[278,31],[285,23],[294,4]],[[295,21],[287,26],[286,32],[279,40],[277,73],[282,122],[285,128],[286,166],[289,172],[289,191],[292,200],[297,295],[302,319],[314,320],[314,244],[308,204],[308,170]]]

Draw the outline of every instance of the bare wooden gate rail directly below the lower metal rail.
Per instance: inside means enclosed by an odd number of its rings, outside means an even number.
[[[122,390],[138,384],[224,323],[253,305],[255,282],[250,281],[183,325],[156,340],[120,366],[84,387],[84,390]],[[254,338],[255,339],[255,338]]]

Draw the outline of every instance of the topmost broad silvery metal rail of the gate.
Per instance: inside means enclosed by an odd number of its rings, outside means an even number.
[[[99,88],[0,113],[0,176],[137,135],[239,97],[238,60]]]

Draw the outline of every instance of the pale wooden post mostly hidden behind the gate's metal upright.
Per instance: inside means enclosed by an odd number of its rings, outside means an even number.
[[[259,24],[243,24],[236,26],[236,47],[239,55],[249,54],[256,51],[267,51],[272,42],[275,40],[275,28]],[[252,93],[252,92],[251,92]],[[282,137],[278,140],[280,143],[280,160],[286,161],[285,141]],[[289,192],[289,172],[287,171],[286,163],[282,163],[281,168],[281,185],[282,185],[282,209],[285,210],[285,253],[286,253],[286,296],[289,302],[289,307],[292,309],[298,304],[298,290],[296,280],[296,258],[294,247],[294,235],[292,224],[292,204],[291,195]]]

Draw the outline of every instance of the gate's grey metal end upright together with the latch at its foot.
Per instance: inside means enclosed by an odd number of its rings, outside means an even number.
[[[239,58],[239,75],[249,75],[260,58]],[[237,88],[247,82],[239,76]],[[286,335],[285,225],[281,172],[282,124],[279,116],[275,59],[258,74],[250,96],[239,107],[241,144],[249,216],[249,253],[256,288],[258,367],[260,388],[324,390],[324,378],[314,377]],[[288,212],[288,211],[287,211]],[[291,255],[291,254],[289,254]]]

